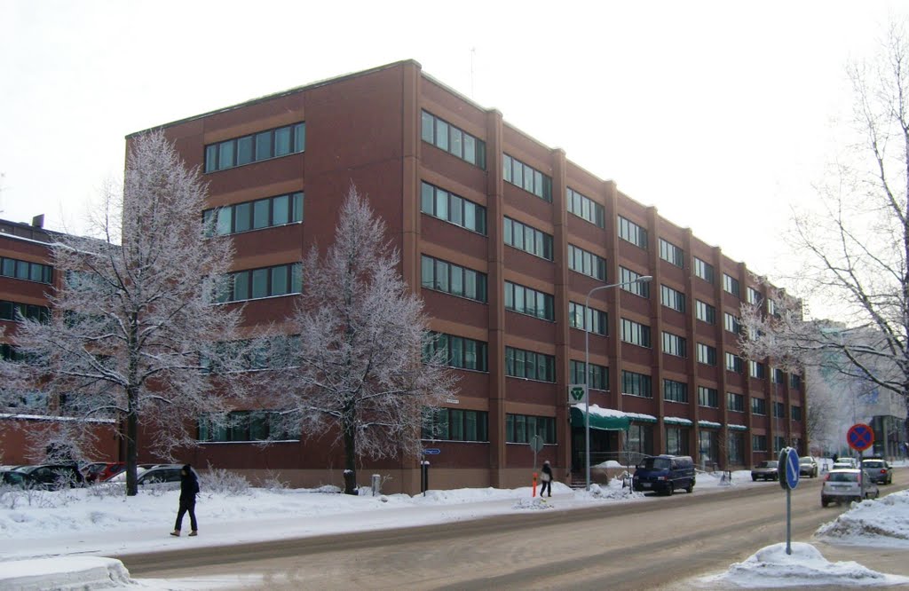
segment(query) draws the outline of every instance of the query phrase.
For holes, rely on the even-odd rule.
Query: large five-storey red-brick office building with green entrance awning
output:
[[[219,233],[235,241],[235,290],[250,325],[281,320],[303,288],[295,272],[331,241],[349,185],[370,197],[402,253],[402,272],[447,336],[460,392],[427,441],[432,486],[518,486],[533,464],[583,470],[584,414],[568,386],[584,382],[584,301],[594,287],[652,275],[590,298],[594,463],[677,453],[744,466],[785,442],[804,451],[798,376],[736,353],[743,301],[767,287],[744,263],[704,244],[616,188],[405,61],[306,85],[163,125],[209,183]],[[220,208],[215,213],[215,208]],[[210,215],[200,212],[200,215]],[[278,279],[273,280],[275,277]],[[237,418],[243,419],[242,409]],[[250,414],[217,434],[195,464],[267,467],[295,483],[326,479],[318,442],[264,450]],[[626,433],[627,435],[623,435]],[[341,456],[327,456],[339,468]],[[365,466],[413,492],[419,458]],[[330,467],[330,466],[329,466]],[[334,476],[331,476],[334,477]]]

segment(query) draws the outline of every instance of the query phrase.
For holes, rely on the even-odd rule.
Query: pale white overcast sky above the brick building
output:
[[[845,65],[909,15],[833,0],[442,6],[0,0],[0,217],[78,231],[125,135],[413,58],[775,279],[794,258],[779,240],[790,205],[838,150]]]

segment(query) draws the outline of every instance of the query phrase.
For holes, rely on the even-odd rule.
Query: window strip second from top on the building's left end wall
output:
[[[203,212],[205,235],[228,235],[303,221],[303,193],[225,205]]]

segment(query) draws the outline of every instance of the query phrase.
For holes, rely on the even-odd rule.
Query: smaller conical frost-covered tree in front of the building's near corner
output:
[[[334,244],[305,257],[289,323],[298,346],[272,380],[286,430],[343,446],[347,494],[356,494],[358,461],[417,456],[425,413],[454,393],[446,360],[423,359],[428,318],[398,263],[385,223],[352,186]]]

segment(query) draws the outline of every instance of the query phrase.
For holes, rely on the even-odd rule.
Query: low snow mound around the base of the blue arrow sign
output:
[[[814,546],[794,542],[791,555],[785,544],[766,546],[725,573],[698,581],[740,587],[884,586],[904,585],[909,576],[884,575],[852,561],[830,562]]]

